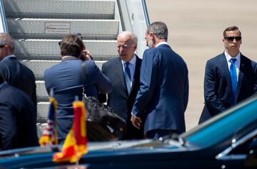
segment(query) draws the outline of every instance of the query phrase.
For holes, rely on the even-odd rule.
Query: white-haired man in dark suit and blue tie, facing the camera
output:
[[[113,90],[108,94],[107,104],[116,114],[126,120],[126,133],[122,139],[143,138],[143,130],[131,124],[131,109],[139,89],[141,59],[135,54],[138,38],[135,34],[124,31],[117,37],[119,58],[105,62],[104,75],[111,80]]]

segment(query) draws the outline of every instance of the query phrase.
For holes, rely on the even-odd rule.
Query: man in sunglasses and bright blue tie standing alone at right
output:
[[[257,65],[240,53],[241,31],[223,31],[225,51],[206,62],[205,105],[199,124],[257,93]]]

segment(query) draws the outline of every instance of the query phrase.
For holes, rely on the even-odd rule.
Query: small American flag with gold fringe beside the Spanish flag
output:
[[[46,127],[44,128],[43,134],[39,139],[39,144],[41,146],[49,146],[58,144],[57,140],[57,129],[56,129],[56,109],[57,102],[54,97],[49,97],[50,107],[47,119]]]

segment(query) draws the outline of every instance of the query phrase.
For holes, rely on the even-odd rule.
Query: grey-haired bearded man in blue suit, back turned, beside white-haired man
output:
[[[148,26],[146,44],[150,49],[143,53],[140,89],[131,116],[133,126],[138,129],[142,122],[140,116],[146,116],[144,133],[147,138],[186,131],[188,69],[167,39],[165,23],[154,22]]]

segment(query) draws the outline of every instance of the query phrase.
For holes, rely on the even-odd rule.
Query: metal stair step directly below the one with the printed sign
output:
[[[61,60],[60,40],[14,40],[15,55],[20,60]],[[117,56],[116,40],[83,40],[94,60],[109,60]]]

